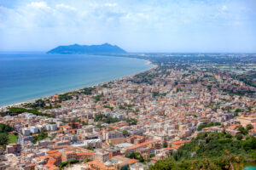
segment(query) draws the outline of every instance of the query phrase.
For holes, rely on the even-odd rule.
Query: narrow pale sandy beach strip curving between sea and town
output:
[[[137,59],[137,58],[132,58],[132,59]],[[151,68],[149,68],[148,70],[146,71],[150,71],[154,68],[157,68],[157,65],[153,65],[151,63],[151,61],[149,61],[148,59],[141,59],[141,60],[144,60],[146,63],[145,65],[152,65]],[[140,73],[143,73],[145,71],[140,71],[140,72],[137,72],[136,74],[133,74],[133,75],[129,75],[129,76],[125,76],[125,77],[134,77],[136,76],[137,74],[140,74]],[[96,83],[96,84],[93,84],[93,85],[89,85],[89,86],[86,86],[86,87],[83,87],[83,88],[90,88],[90,87],[95,87],[95,86],[99,86],[101,84],[105,84],[105,83],[108,83],[108,82],[113,82],[113,81],[119,81],[119,80],[122,80],[124,79],[125,77],[119,77],[119,78],[116,78],[116,79],[113,79],[113,80],[110,80],[110,81],[107,81],[107,82],[99,82],[99,83]],[[76,91],[79,91],[80,89],[83,89],[83,88],[76,88],[76,89],[73,89],[73,90],[68,90],[66,92],[63,92],[63,93],[58,93],[58,94],[67,94],[67,93],[70,93],[70,92],[76,92]],[[18,107],[18,106],[22,106],[26,103],[32,103],[38,99],[49,99],[50,97],[52,97],[53,95],[55,94],[51,94],[51,95],[47,95],[45,97],[41,97],[41,98],[37,98],[37,99],[29,99],[29,100],[26,100],[26,101],[23,101],[23,102],[18,102],[18,103],[15,103],[15,104],[10,104],[10,105],[0,105],[0,111],[1,110],[6,110],[7,108],[9,107]]]

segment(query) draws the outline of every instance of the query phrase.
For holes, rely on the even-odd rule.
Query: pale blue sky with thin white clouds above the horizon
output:
[[[0,51],[256,53],[256,0],[0,0]]]

